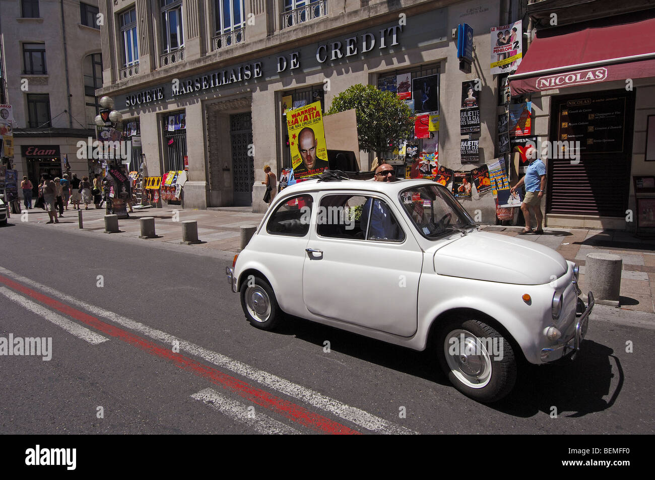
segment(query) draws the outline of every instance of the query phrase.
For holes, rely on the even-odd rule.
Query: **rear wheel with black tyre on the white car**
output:
[[[271,286],[257,276],[248,276],[241,284],[241,307],[253,327],[272,330],[282,318]]]

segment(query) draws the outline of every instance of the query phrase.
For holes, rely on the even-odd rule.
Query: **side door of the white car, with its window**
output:
[[[423,255],[398,209],[373,193],[325,193],[319,202],[303,266],[307,309],[402,337],[413,335]],[[385,209],[386,224],[394,230],[387,238],[373,234],[371,225],[376,210]]]

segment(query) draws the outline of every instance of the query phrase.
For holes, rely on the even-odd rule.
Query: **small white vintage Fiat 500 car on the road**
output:
[[[593,308],[578,268],[548,247],[478,231],[441,185],[312,180],[284,189],[227,268],[246,318],[291,314],[434,348],[455,388],[496,401],[520,358],[574,356]]]

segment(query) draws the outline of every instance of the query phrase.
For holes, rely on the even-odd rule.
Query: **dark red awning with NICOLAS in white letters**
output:
[[[537,33],[517,71],[512,95],[613,80],[655,77],[655,18]]]

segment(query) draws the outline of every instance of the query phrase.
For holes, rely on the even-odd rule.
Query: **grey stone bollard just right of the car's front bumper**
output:
[[[588,253],[584,278],[596,303],[619,306],[623,260],[613,253]]]

